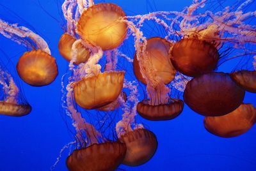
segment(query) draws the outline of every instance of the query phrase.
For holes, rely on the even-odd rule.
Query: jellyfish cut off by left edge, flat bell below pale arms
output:
[[[21,100],[19,88],[12,75],[4,70],[0,64],[0,114],[10,116],[23,116],[31,112],[31,106]]]

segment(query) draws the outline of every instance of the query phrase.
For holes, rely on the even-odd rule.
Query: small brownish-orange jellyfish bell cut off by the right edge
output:
[[[234,71],[230,73],[230,77],[245,91],[256,93],[256,71]]]

